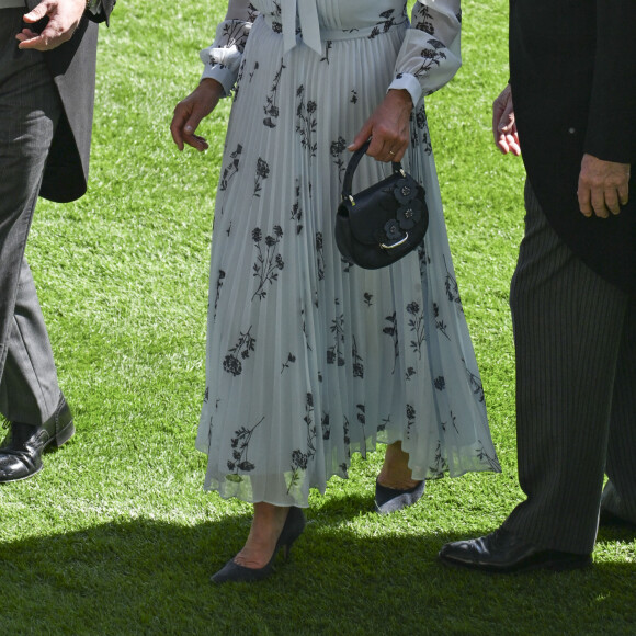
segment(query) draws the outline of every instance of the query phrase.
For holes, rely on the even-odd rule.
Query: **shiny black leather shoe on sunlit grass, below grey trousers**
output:
[[[11,422],[0,447],[0,482],[26,479],[42,470],[42,453],[47,446],[61,446],[75,434],[72,413],[60,395],[53,416],[41,427]]]

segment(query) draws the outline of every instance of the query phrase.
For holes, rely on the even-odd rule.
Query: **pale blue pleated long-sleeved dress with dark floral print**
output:
[[[404,0],[252,0],[228,16],[202,52],[234,102],[196,439],[205,487],[306,507],[352,453],[398,440],[414,479],[500,470],[423,102],[461,65],[458,0],[416,3],[411,24]],[[418,251],[365,271],[340,255],[333,222],[347,146],[389,87],[416,104],[402,164],[430,224]],[[364,158],[354,189],[389,170]]]

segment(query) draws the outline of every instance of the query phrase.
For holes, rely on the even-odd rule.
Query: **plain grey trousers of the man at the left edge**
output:
[[[61,104],[44,55],[18,49],[23,13],[0,10],[0,412],[39,424],[59,386],[24,250]]]

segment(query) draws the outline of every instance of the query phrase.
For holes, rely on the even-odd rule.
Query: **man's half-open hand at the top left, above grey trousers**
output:
[[[50,50],[69,41],[87,8],[86,0],[42,0],[35,9],[24,15],[24,22],[34,24],[48,16],[48,24],[42,33],[23,29],[15,38],[19,48]]]

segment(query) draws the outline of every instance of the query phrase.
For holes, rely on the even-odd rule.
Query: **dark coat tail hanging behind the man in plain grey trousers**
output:
[[[98,50],[95,23],[107,21],[115,1],[102,0],[100,15],[87,12],[68,42],[45,53],[64,107],[39,191],[45,198],[73,201],[87,191]],[[26,0],[29,9],[37,4],[39,0]]]

